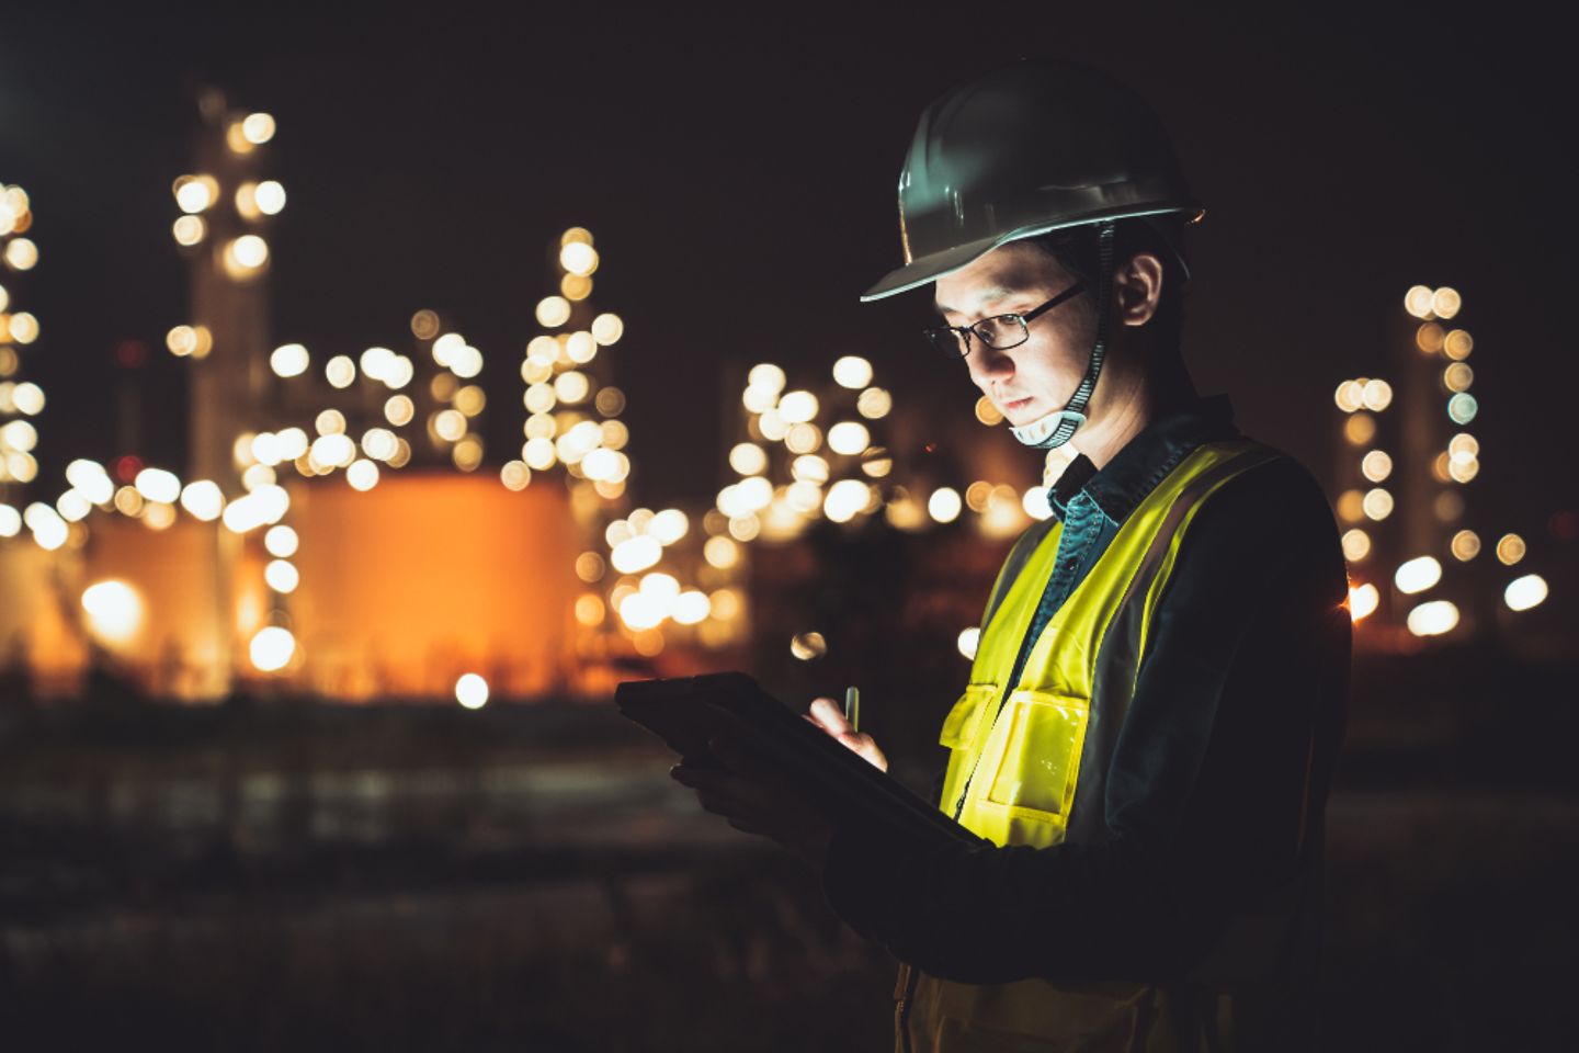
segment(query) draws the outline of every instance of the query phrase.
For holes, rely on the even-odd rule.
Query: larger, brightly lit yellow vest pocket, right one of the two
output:
[[[1080,774],[1090,699],[1018,690],[1009,696],[1009,729],[987,800],[1044,818],[1069,815]]]

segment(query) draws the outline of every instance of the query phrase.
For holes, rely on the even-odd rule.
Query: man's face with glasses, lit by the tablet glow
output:
[[[935,306],[949,325],[971,325],[993,314],[1028,314],[1071,286],[1074,278],[1036,246],[1011,242],[936,281]],[[1030,324],[1031,338],[996,350],[971,335],[965,365],[971,380],[1011,425],[1028,425],[1063,409],[1085,376],[1096,339],[1090,290]]]

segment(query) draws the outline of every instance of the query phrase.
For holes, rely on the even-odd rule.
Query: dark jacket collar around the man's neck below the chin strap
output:
[[[1210,395],[1170,410],[1124,444],[1099,472],[1086,455],[1075,456],[1047,488],[1047,504],[1060,521],[1082,489],[1115,524],[1129,518],[1146,494],[1195,447],[1240,434],[1227,395]]]

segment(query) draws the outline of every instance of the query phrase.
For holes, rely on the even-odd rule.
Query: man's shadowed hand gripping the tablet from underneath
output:
[[[832,823],[744,742],[712,739],[707,748],[723,767],[676,764],[669,769],[674,781],[695,789],[701,807],[725,816],[734,829],[772,838],[821,870],[834,837]]]

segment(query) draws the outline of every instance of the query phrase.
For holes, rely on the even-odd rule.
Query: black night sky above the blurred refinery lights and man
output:
[[[897,399],[940,420],[971,412],[963,369],[916,335],[927,294],[857,295],[900,262],[894,185],[921,109],[998,62],[1047,54],[1110,69],[1172,129],[1208,208],[1186,352],[1241,428],[1325,477],[1333,388],[1386,376],[1408,286],[1451,284],[1476,341],[1473,500],[1532,534],[1579,507],[1554,426],[1579,390],[1560,322],[1571,60],[1511,5],[1475,17],[1312,5],[1276,21],[1055,3],[238,11],[6,16],[0,182],[32,194],[41,249],[8,284],[43,325],[19,379],[51,399],[38,422],[51,496],[69,458],[126,452],[117,341],[150,343],[145,398],[180,406],[183,365],[163,350],[189,320],[171,182],[189,171],[201,81],[279,123],[275,341],[305,343],[316,363],[404,349],[411,314],[441,311],[486,355],[493,464],[512,456],[521,349],[554,290],[546,245],[589,227],[594,303],[627,322],[609,354],[632,393],[635,496],[669,502],[722,482],[723,426],[695,407],[718,404],[731,362],[780,362],[794,384],[865,354]],[[178,414],[150,412],[142,445],[178,467]]]

